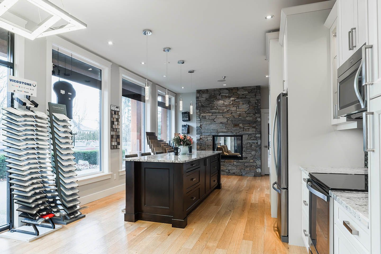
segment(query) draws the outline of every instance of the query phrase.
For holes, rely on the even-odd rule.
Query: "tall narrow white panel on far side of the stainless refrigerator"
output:
[[[271,39],[269,42],[269,93],[270,93],[270,135],[272,138],[274,113],[276,107],[277,96],[283,91],[283,65],[282,65],[282,46],[279,45],[278,39]],[[272,140],[270,141],[270,186],[277,181],[277,173],[273,159]],[[270,191],[271,217],[277,217],[277,192]]]

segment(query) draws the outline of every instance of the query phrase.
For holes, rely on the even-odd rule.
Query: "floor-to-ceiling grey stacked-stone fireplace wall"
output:
[[[225,157],[221,172],[226,175],[261,176],[261,88],[203,89],[196,91],[197,150],[217,150],[226,145],[241,158]],[[227,137],[242,136],[239,141]]]

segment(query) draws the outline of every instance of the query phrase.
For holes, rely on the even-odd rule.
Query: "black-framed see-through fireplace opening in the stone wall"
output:
[[[223,160],[242,160],[242,135],[213,135],[213,151]]]

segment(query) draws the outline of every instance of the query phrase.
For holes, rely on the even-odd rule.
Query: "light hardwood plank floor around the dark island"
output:
[[[2,254],[305,254],[282,243],[271,218],[269,178],[222,176],[188,217],[186,228],[124,222],[125,193],[87,204],[84,219],[30,243],[0,238]]]

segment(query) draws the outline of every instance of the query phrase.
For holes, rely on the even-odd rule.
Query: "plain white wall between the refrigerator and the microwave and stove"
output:
[[[301,237],[299,166],[363,167],[362,130],[331,125],[330,10],[287,16],[289,243]]]

